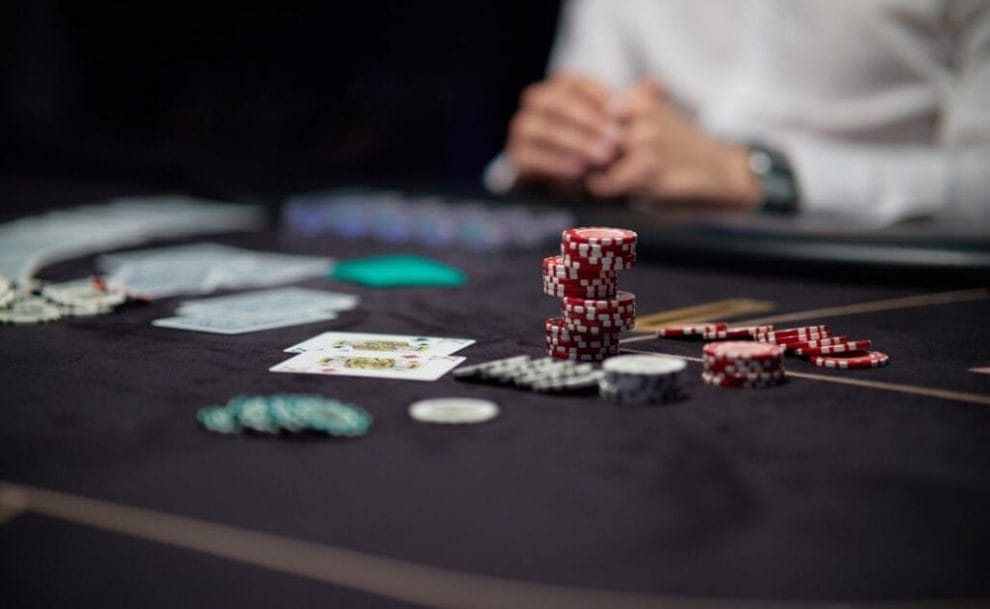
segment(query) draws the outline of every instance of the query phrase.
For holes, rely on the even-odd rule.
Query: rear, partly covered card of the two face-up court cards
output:
[[[450,355],[473,345],[470,338],[443,338],[437,336],[405,336],[401,334],[363,334],[360,332],[324,332],[313,338],[292,345],[286,353],[328,351],[350,353],[368,351],[382,355],[420,356]]]

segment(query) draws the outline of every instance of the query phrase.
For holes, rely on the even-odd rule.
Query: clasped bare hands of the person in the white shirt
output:
[[[752,208],[760,186],[743,146],[699,129],[649,81],[621,91],[574,74],[530,85],[506,152],[521,183],[602,198]]]

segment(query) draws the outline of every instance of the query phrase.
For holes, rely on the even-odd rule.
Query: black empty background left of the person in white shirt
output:
[[[558,3],[0,11],[5,174],[288,192],[476,182],[519,91],[542,76]]]

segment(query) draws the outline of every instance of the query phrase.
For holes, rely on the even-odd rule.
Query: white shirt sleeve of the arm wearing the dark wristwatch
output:
[[[795,135],[782,148],[804,209],[990,220],[990,3],[954,9],[954,74],[941,87],[935,141],[882,146]]]

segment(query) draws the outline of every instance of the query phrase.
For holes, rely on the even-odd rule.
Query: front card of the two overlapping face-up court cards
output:
[[[374,351],[306,351],[269,368],[272,372],[435,381],[466,358],[387,354]]]

